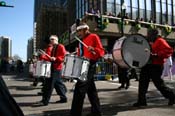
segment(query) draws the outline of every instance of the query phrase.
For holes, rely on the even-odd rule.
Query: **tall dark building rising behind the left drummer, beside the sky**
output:
[[[43,49],[49,36],[60,36],[68,30],[67,0],[35,0],[34,7],[34,52]]]

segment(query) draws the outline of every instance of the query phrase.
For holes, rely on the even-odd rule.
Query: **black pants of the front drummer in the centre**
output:
[[[97,89],[94,83],[94,73],[95,73],[95,64],[90,65],[88,71],[88,80],[80,81],[78,80],[75,85],[72,107],[71,107],[71,116],[81,116],[84,98],[87,93],[89,101],[91,103],[91,112],[100,114],[100,101],[97,94]]]

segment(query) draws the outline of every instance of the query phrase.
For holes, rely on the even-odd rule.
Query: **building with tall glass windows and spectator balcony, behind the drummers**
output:
[[[90,30],[99,34],[108,52],[112,50],[115,40],[123,35],[142,34],[146,36],[147,33],[145,32],[147,32],[148,26],[152,24],[159,29],[160,34],[173,46],[175,43],[173,35],[175,23],[174,4],[173,0],[70,0],[68,3],[68,15],[71,18],[68,21],[70,27],[73,28],[77,19],[86,17]],[[107,28],[103,30],[97,28],[98,23],[95,15],[98,12],[100,12],[103,19],[109,21]],[[91,16],[86,16],[86,13],[90,13]],[[123,26],[118,22],[120,20],[126,21],[126,15],[129,18],[127,21],[129,23]],[[141,19],[143,23],[141,22],[141,28],[134,32],[133,27],[136,25],[136,19],[139,22]],[[118,26],[121,26],[121,29]],[[169,30],[172,33],[167,32],[168,34],[165,34],[165,31]],[[71,34],[70,37],[70,42],[72,42],[70,46],[75,47],[76,43],[75,46],[72,45],[75,42],[74,34]]]

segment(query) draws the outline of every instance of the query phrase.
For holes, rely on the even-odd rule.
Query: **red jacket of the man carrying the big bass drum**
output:
[[[152,57],[153,64],[163,65],[165,60],[173,53],[171,46],[161,37],[157,38],[151,47],[152,53],[157,54],[157,56]]]

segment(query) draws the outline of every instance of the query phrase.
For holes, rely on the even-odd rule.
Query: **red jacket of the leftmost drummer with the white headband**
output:
[[[53,46],[49,46],[46,48],[45,52],[51,56]],[[58,47],[55,51],[54,57],[56,60],[53,63],[53,68],[56,70],[61,70],[63,67],[63,61],[66,54],[65,47],[62,44],[58,44]],[[40,56],[40,60],[50,61],[50,58],[47,55],[42,54]],[[51,61],[50,61],[51,62]]]

